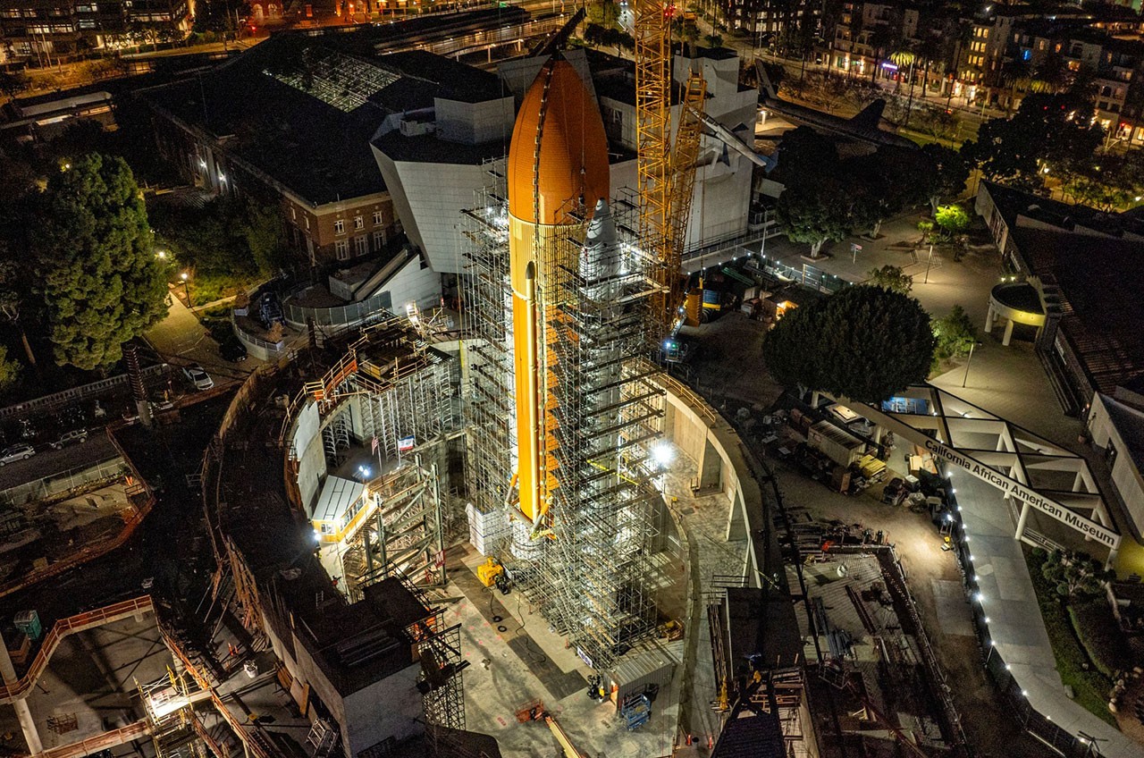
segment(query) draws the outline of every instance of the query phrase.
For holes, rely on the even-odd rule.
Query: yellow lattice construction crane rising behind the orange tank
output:
[[[680,319],[680,267],[691,214],[696,160],[707,85],[692,70],[683,93],[672,150],[672,19],[682,8],[670,0],[636,0],[636,153],[639,179],[639,243],[656,260],[652,299],[661,334]]]

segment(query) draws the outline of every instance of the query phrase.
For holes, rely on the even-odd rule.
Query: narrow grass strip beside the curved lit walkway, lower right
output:
[[[1062,605],[1052,585],[1041,574],[1044,555],[1034,554],[1024,545],[1025,562],[1028,563],[1028,575],[1033,579],[1036,592],[1036,603],[1041,607],[1044,629],[1052,643],[1052,655],[1057,660],[1057,671],[1060,681],[1073,688],[1073,700],[1111,726],[1117,726],[1117,718],[1109,712],[1109,690],[1112,682],[1105,678],[1088,660],[1068,621],[1068,611]],[[1089,670],[1085,671],[1083,664]],[[1119,728],[1119,727],[1118,727]]]

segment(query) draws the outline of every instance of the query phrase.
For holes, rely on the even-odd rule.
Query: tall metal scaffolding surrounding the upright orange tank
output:
[[[499,177],[493,173],[494,184]],[[495,187],[467,213],[464,276],[469,495],[474,511],[506,508],[516,469],[507,210]],[[587,214],[579,208],[580,216]],[[545,469],[550,508],[538,537],[510,521],[490,540],[514,583],[593,666],[605,668],[653,629],[648,558],[654,537],[651,447],[662,393],[646,349],[648,299],[660,291],[646,260],[605,207],[538,261]],[[620,230],[617,235],[615,229]],[[575,267],[561,261],[579,261]]]

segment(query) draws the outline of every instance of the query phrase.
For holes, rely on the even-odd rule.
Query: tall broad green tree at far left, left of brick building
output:
[[[56,363],[105,370],[166,315],[164,269],[122,158],[93,152],[54,175],[31,242]]]

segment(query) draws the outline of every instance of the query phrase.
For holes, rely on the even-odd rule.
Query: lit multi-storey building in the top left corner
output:
[[[0,64],[178,39],[192,14],[189,0],[0,0]]]

